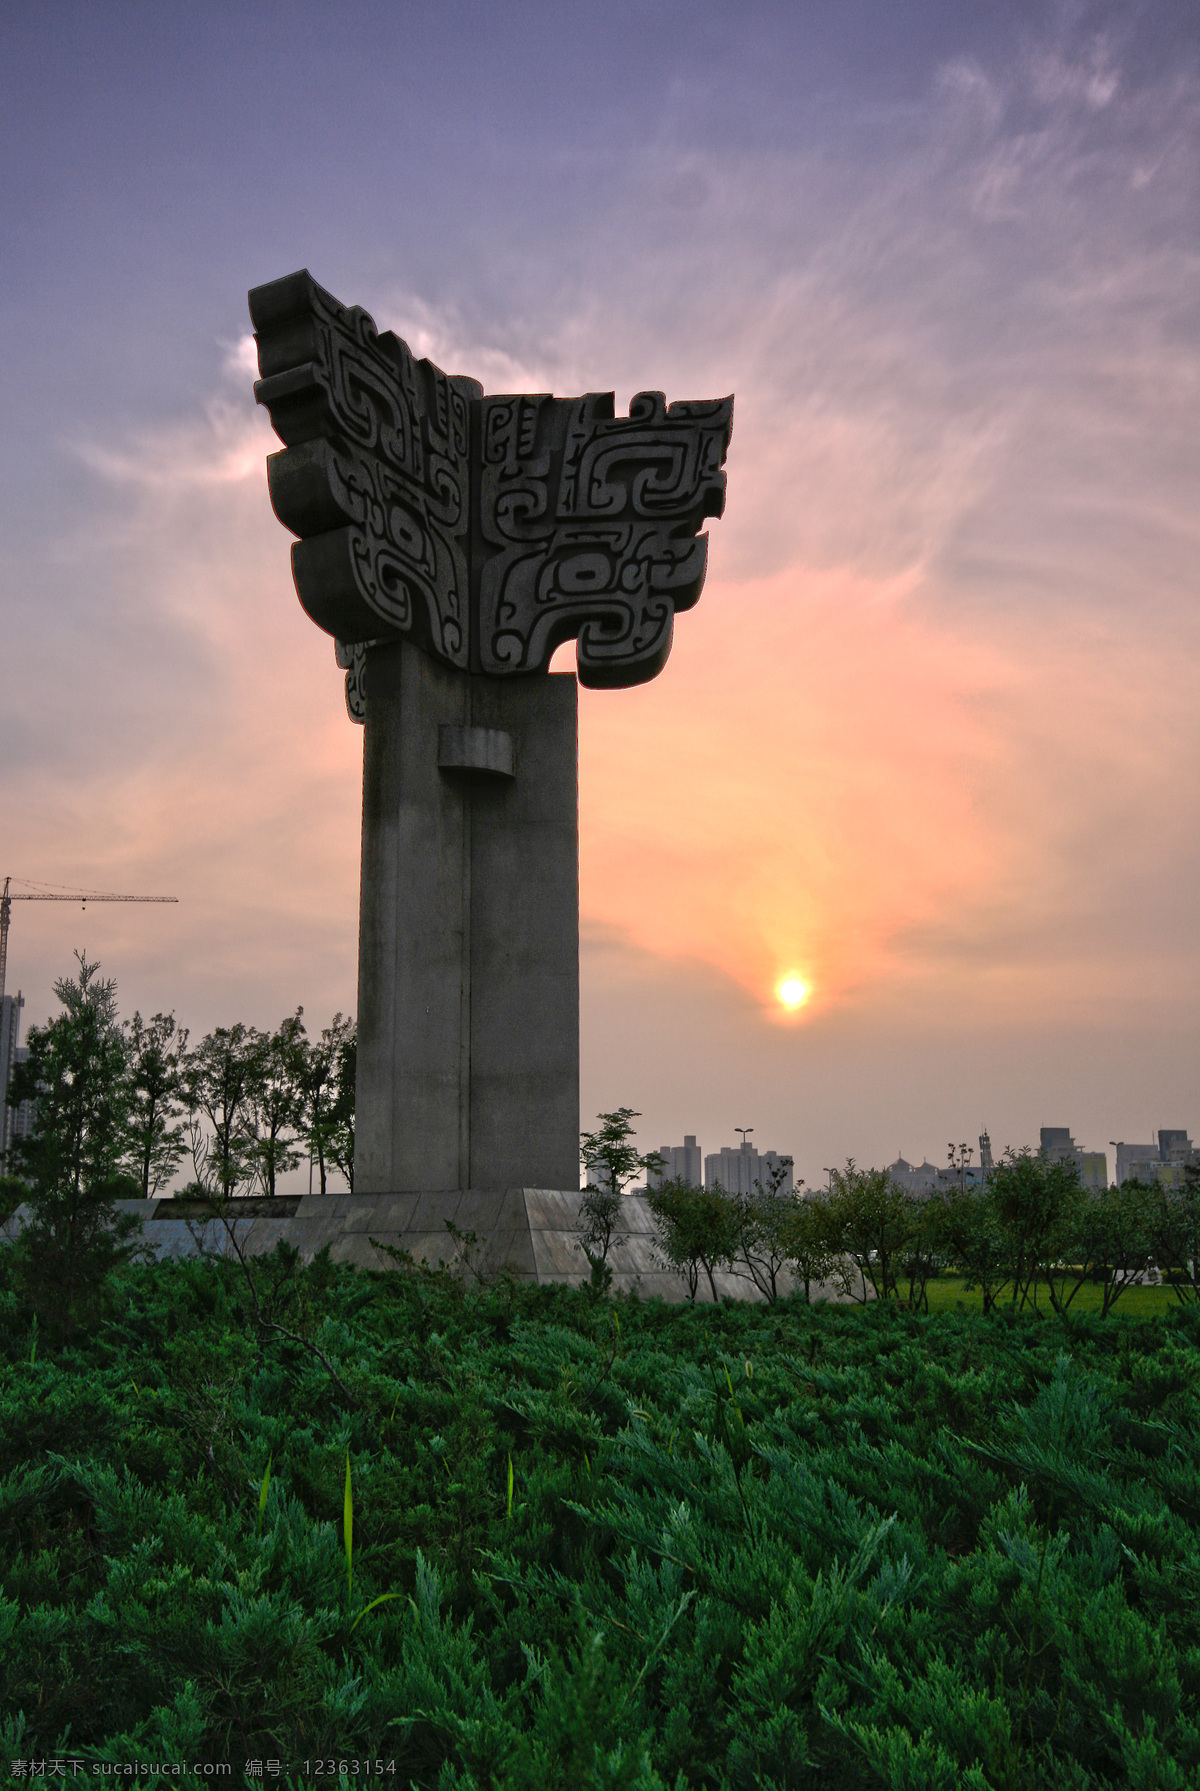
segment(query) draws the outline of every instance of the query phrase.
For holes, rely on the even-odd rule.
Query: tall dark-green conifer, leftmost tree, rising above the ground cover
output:
[[[100,980],[84,953],[75,958],[75,978],[54,985],[63,1014],[29,1028],[29,1058],[9,1096],[34,1101],[32,1137],[13,1146],[32,1207],[14,1266],[39,1322],[63,1343],[99,1313],[107,1277],[134,1254],[127,1239],[138,1221],[113,1202],[140,1193],[122,1171],[131,1096],[116,983]]]

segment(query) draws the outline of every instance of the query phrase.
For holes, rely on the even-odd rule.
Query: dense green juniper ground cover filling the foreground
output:
[[[1196,1782],[1196,1307],[668,1309],[317,1261],[256,1311],[184,1263],[122,1268],[48,1354],[5,1257],[11,1759]]]

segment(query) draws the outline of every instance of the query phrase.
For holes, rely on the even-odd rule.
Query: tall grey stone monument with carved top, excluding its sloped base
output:
[[[550,657],[575,638],[591,688],[663,670],[733,398],[485,396],[308,272],[249,304],[270,501],[365,724],[355,1195],[575,1191],[577,682]]]

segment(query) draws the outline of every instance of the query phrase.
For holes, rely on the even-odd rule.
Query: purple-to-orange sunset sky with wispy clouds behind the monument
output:
[[[308,267],[489,392],[736,394],[666,670],[580,691],[584,1123],[1200,1128],[1191,7],[18,0],[0,158],[0,876],[179,897],[16,904],[25,1023],[79,947],[355,1008],[245,308]]]

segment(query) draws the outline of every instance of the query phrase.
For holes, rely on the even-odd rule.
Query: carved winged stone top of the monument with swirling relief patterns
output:
[[[573,636],[584,684],[663,668],[724,509],[731,398],[639,392],[629,417],[611,392],[484,398],[306,272],[258,287],[251,315],[256,396],[288,444],[270,496],[313,621],[491,675],[544,672]]]

